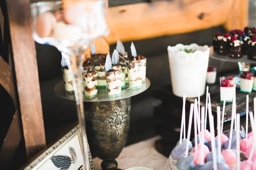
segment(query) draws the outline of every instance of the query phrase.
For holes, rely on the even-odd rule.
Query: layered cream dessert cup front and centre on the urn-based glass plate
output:
[[[122,84],[122,69],[116,68],[109,71],[105,71],[108,95],[120,95],[121,94],[121,84]]]

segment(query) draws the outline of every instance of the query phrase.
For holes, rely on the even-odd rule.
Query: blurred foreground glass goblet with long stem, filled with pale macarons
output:
[[[68,54],[73,72],[73,88],[83,142],[85,169],[89,170],[85,115],[81,85],[84,50],[90,42],[108,34],[104,0],[52,1],[31,4],[32,32],[36,42],[49,44]]]

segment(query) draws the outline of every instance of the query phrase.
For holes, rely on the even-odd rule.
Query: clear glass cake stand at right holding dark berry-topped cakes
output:
[[[213,51],[213,48],[211,47],[211,54],[209,57],[212,59],[217,59],[220,61],[225,62],[236,62],[239,66],[239,74],[238,75],[230,75],[230,77],[233,77],[236,81],[236,87],[240,87],[240,74],[242,71],[249,71],[250,70],[250,64],[256,63],[256,61],[247,59],[247,55],[243,55],[243,58],[239,59],[233,59],[228,57],[227,55],[219,55],[215,51]]]

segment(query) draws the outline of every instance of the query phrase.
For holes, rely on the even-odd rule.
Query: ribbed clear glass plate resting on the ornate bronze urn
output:
[[[122,89],[121,91],[121,95],[114,95],[114,96],[108,95],[107,88],[98,88],[98,94],[96,96],[93,96],[91,98],[84,96],[83,101],[84,102],[105,102],[105,101],[111,101],[111,100],[125,99],[125,98],[142,93],[143,91],[147,90],[149,86],[150,86],[150,81],[148,78],[146,78],[145,82],[142,82],[142,86],[140,88],[130,88],[129,85],[126,84],[125,88]],[[63,81],[59,82],[55,86],[54,91],[58,96],[61,96],[65,99],[76,100],[75,94],[68,94],[65,91]]]

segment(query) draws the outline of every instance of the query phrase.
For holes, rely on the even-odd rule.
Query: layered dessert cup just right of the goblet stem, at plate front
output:
[[[93,97],[98,94],[98,81],[97,81],[97,71],[96,70],[84,70],[83,71],[83,85],[84,85],[84,95],[86,97]]]

